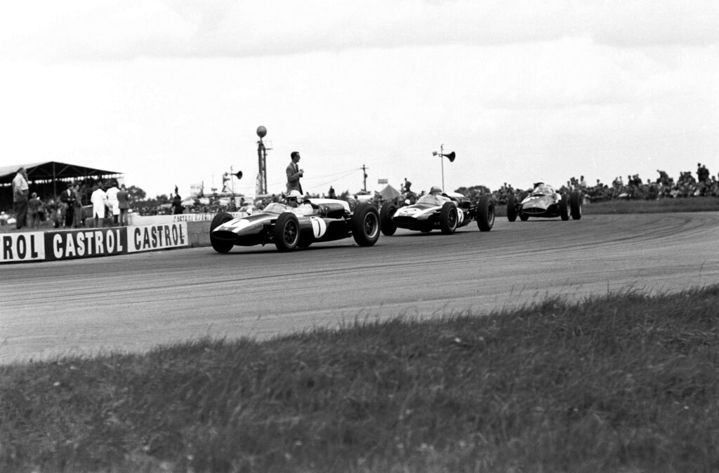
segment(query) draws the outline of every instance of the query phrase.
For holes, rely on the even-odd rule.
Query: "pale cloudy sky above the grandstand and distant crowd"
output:
[[[0,165],[76,162],[150,196],[719,172],[719,2],[14,1]]]

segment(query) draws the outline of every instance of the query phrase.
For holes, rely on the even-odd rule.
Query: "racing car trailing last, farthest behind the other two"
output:
[[[582,194],[578,190],[560,194],[549,184],[535,183],[531,193],[521,201],[513,193],[507,201],[509,221],[515,221],[517,217],[521,221],[527,221],[529,217],[562,217],[562,220],[569,220],[569,216],[574,220],[582,218]]]

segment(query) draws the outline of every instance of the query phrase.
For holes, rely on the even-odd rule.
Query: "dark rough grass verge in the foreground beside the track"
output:
[[[0,367],[3,472],[719,469],[719,286]]]

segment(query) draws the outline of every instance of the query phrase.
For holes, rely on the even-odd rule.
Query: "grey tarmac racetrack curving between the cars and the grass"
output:
[[[719,213],[498,219],[279,253],[176,249],[0,267],[0,363],[266,339],[355,319],[488,313],[559,295],[719,282]]]

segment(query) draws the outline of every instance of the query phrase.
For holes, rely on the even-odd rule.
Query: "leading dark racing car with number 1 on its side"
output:
[[[258,213],[239,218],[219,212],[210,224],[210,244],[219,253],[227,253],[235,245],[267,243],[274,243],[280,252],[290,252],[350,236],[362,247],[377,242],[380,214],[375,206],[360,203],[352,212],[346,201],[306,198],[296,207],[273,202]]]

